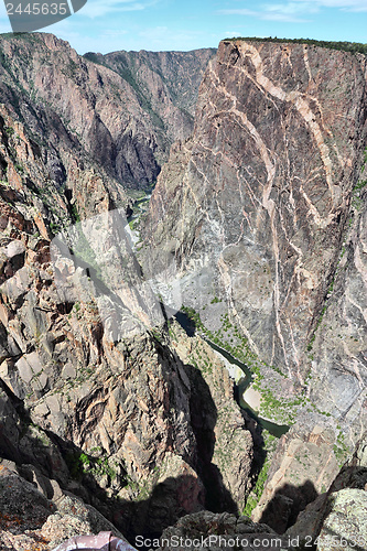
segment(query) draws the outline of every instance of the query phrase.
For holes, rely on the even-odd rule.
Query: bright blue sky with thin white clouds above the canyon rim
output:
[[[1,0],[0,6],[0,32],[10,32]],[[67,40],[80,54],[194,50],[217,46],[228,36],[367,43],[367,0],[88,0],[44,31]]]

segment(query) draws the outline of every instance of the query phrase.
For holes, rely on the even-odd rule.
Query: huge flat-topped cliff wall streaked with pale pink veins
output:
[[[343,397],[335,372],[343,371],[348,408],[365,386],[361,213],[348,245],[355,260],[338,276],[348,282],[339,283],[338,299],[327,306],[332,335],[325,347],[324,332],[315,356],[309,354],[346,239],[366,109],[363,55],[222,42],[201,86],[193,136],[172,148],[144,228],[150,261],[154,253],[175,258],[187,305],[211,309],[211,302],[226,301],[231,323],[247,339],[249,363],[256,356],[267,374],[263,385],[279,379],[273,395],[305,391],[313,360],[311,376],[327,379],[323,404],[332,393],[336,417]],[[215,325],[216,313],[211,316],[208,309],[202,314]],[[358,333],[359,344],[350,338],[346,345],[353,341],[354,353],[342,352],[343,338],[331,353],[341,323],[350,336]],[[316,388],[317,382],[314,393]]]

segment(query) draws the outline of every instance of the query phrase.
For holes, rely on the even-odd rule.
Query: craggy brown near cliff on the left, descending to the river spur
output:
[[[205,343],[196,356],[180,332],[170,347],[141,307],[152,293],[112,285],[139,272],[120,218],[101,225],[123,203],[121,186],[74,171],[84,207],[73,225],[67,194],[3,106],[0,160],[0,456],[56,480],[130,537],[160,533],[205,505],[241,508],[252,439],[224,365]],[[79,240],[53,259],[58,228]]]

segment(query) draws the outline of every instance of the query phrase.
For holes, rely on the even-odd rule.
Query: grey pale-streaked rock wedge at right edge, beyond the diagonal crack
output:
[[[338,420],[347,440],[354,443],[360,436],[360,422],[365,426],[367,404],[366,166],[365,152],[352,195],[348,230],[307,358],[310,397]]]

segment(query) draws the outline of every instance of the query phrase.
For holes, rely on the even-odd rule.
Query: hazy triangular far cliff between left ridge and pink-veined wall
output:
[[[199,84],[216,50],[192,52],[88,53],[84,57],[105,65],[126,79],[148,111],[156,134],[158,155],[168,160],[170,145],[188,138]]]

